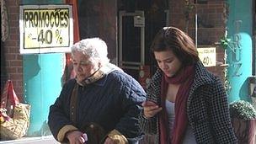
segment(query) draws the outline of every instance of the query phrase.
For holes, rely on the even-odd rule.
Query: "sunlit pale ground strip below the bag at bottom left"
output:
[[[19,140],[0,141],[0,144],[60,144],[53,136],[23,137]]]

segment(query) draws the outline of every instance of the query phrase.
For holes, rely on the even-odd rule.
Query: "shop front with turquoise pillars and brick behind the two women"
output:
[[[1,41],[1,93],[4,83],[10,79],[20,101],[31,105],[30,125],[25,136],[35,137],[31,141],[53,141],[47,125],[49,106],[58,97],[62,84],[72,77],[67,70],[67,65],[70,64],[68,50],[60,52],[52,49],[68,49],[73,42],[87,37],[97,36],[105,40],[110,61],[131,74],[146,88],[157,67],[149,51],[153,36],[164,26],[179,27],[194,38],[205,67],[221,77],[227,86],[229,102],[237,99],[251,101],[248,96],[248,79],[255,76],[256,72],[256,3],[253,0],[186,1],[189,3],[176,0],[77,0],[77,5],[72,5],[73,7],[68,4],[76,2],[75,0],[1,2],[1,10],[5,8],[7,13],[2,16],[6,19],[1,21],[2,25],[6,26],[5,31],[2,29]],[[25,9],[26,7],[30,9]],[[44,45],[40,45],[37,46],[40,47],[37,51],[22,51],[20,48],[26,47],[23,42],[29,37],[23,36],[24,32],[30,30],[33,34],[36,29],[22,30],[20,26],[24,24],[25,19],[30,19],[27,24],[38,24],[32,19],[38,16],[23,15],[22,19],[21,13],[26,10],[28,13],[34,13],[39,8],[44,11],[45,7],[68,10],[68,17],[71,18],[69,26],[74,28],[70,31],[72,35],[65,34],[65,29],[55,28],[48,33],[47,29],[44,29],[41,33],[44,37],[40,37],[38,32],[35,39],[44,44],[48,43],[46,48],[53,48],[45,51]],[[51,10],[48,12],[51,15]],[[61,13],[61,10],[58,12]],[[77,15],[74,17],[74,14]],[[65,18],[63,16],[63,19]],[[52,29],[54,26],[50,24],[49,27]],[[45,35],[52,35],[55,39],[45,38]],[[223,36],[231,40],[226,50],[220,45]],[[64,40],[65,38],[67,40]],[[64,45],[65,42],[67,45]],[[2,142],[8,141],[0,141]]]

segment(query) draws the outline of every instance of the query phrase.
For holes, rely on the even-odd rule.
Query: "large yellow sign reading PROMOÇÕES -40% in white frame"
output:
[[[21,54],[71,51],[72,6],[24,5],[19,14]]]

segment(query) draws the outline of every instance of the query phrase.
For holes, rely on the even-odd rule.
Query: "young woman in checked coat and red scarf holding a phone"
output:
[[[237,143],[221,80],[201,63],[193,40],[165,27],[151,46],[158,69],[139,124],[155,143]]]

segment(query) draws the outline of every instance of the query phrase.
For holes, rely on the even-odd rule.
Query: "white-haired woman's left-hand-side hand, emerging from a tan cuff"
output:
[[[83,144],[86,141],[81,131],[67,132],[67,139],[70,144]]]

